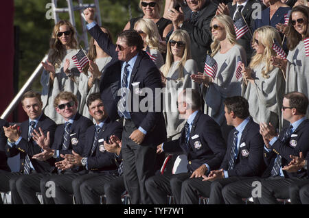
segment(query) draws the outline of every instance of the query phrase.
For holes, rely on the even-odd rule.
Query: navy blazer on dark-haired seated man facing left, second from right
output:
[[[242,131],[235,165],[233,169],[228,170],[229,160],[231,158],[231,146],[233,145],[233,132],[234,130],[229,132],[227,153],[220,168],[227,170],[229,177],[262,175],[265,165],[263,161],[264,141],[260,135],[260,125],[253,122],[252,118],[250,118],[249,123],[247,123]]]

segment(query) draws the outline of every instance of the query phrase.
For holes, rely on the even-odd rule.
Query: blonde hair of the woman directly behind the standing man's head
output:
[[[146,34],[144,43],[149,46],[150,49],[157,49],[160,52],[165,51],[165,47],[161,45],[161,36],[158,31],[157,25],[150,19],[139,19],[136,21],[134,28],[139,25],[141,31]]]

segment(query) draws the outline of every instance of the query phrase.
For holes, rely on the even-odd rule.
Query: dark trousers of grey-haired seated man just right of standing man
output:
[[[154,204],[168,204],[167,195],[172,195],[175,204],[181,202],[181,185],[192,173],[154,175],[146,180],[146,190]]]

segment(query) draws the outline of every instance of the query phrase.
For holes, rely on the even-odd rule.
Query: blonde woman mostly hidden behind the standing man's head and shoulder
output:
[[[158,69],[164,64],[163,56],[165,46],[160,43],[160,35],[155,23],[150,19],[139,19],[134,29],[139,33],[144,41],[144,51],[148,53],[151,60],[155,62]]]

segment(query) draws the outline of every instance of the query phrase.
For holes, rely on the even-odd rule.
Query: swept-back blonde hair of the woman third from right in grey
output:
[[[231,19],[231,17],[225,14],[218,14],[211,19],[210,25],[212,21],[214,21],[214,19],[217,19],[218,22],[221,23],[221,25],[225,29],[226,38],[227,40],[229,40],[229,43],[231,43],[231,45],[235,45],[236,33],[233,26],[233,20]],[[220,47],[220,41],[218,39],[215,39],[214,36],[211,36],[211,38],[213,40],[213,43],[211,43],[210,45],[211,56],[214,57],[214,55],[221,49],[221,47]]]

